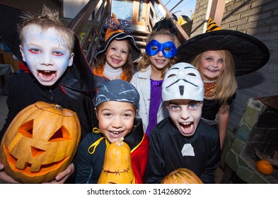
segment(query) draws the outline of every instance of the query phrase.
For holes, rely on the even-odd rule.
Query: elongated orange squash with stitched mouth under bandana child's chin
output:
[[[135,184],[130,148],[123,137],[108,146],[98,184]]]

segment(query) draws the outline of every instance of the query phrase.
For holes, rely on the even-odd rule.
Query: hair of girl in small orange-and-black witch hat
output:
[[[118,40],[118,41],[121,41],[121,40]],[[132,45],[128,39],[123,39],[122,41],[127,42],[128,55],[127,55],[127,62],[122,66],[122,76],[121,77],[127,78],[124,80],[129,82],[132,79],[132,75],[134,73],[134,65],[133,65],[133,60],[132,60]],[[112,40],[111,40],[111,42],[112,42]],[[110,44],[111,44],[111,42],[110,42]],[[109,45],[108,45],[107,49],[109,48]],[[93,68],[95,68],[97,73],[101,73],[100,71],[103,71],[105,62],[106,62],[105,52],[99,54],[98,57],[96,57],[95,62],[93,64]]]

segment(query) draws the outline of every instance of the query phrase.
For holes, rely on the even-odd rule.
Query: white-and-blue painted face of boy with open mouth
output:
[[[42,30],[33,24],[25,27],[25,38],[20,50],[23,61],[43,86],[56,83],[71,66],[74,57],[57,30]]]

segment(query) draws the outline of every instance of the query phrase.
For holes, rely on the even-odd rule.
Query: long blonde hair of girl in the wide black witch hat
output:
[[[216,86],[214,89],[215,99],[219,100],[221,105],[226,107],[228,105],[228,99],[236,92],[237,83],[236,83],[236,75],[233,64],[233,57],[231,52],[228,50],[216,50],[216,52],[220,55],[220,57],[224,61],[224,68],[220,71],[219,76],[216,79]],[[207,52],[202,52],[198,54],[195,59],[192,60],[191,64],[194,65],[201,75],[201,69],[199,65],[204,59],[204,56]],[[203,76],[202,76],[203,77]]]

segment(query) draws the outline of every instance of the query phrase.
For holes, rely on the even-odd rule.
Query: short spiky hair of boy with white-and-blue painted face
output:
[[[18,24],[18,33],[21,40],[21,45],[23,45],[24,42],[26,28],[29,25],[37,25],[42,28],[43,31],[49,28],[55,28],[59,35],[62,35],[66,47],[68,47],[70,52],[73,52],[75,39],[74,32],[71,29],[66,28],[66,26],[61,21],[59,21],[58,11],[51,10],[47,6],[43,6],[42,13],[40,13],[40,15],[25,13],[23,16],[21,16],[21,18],[23,19],[21,23]]]

